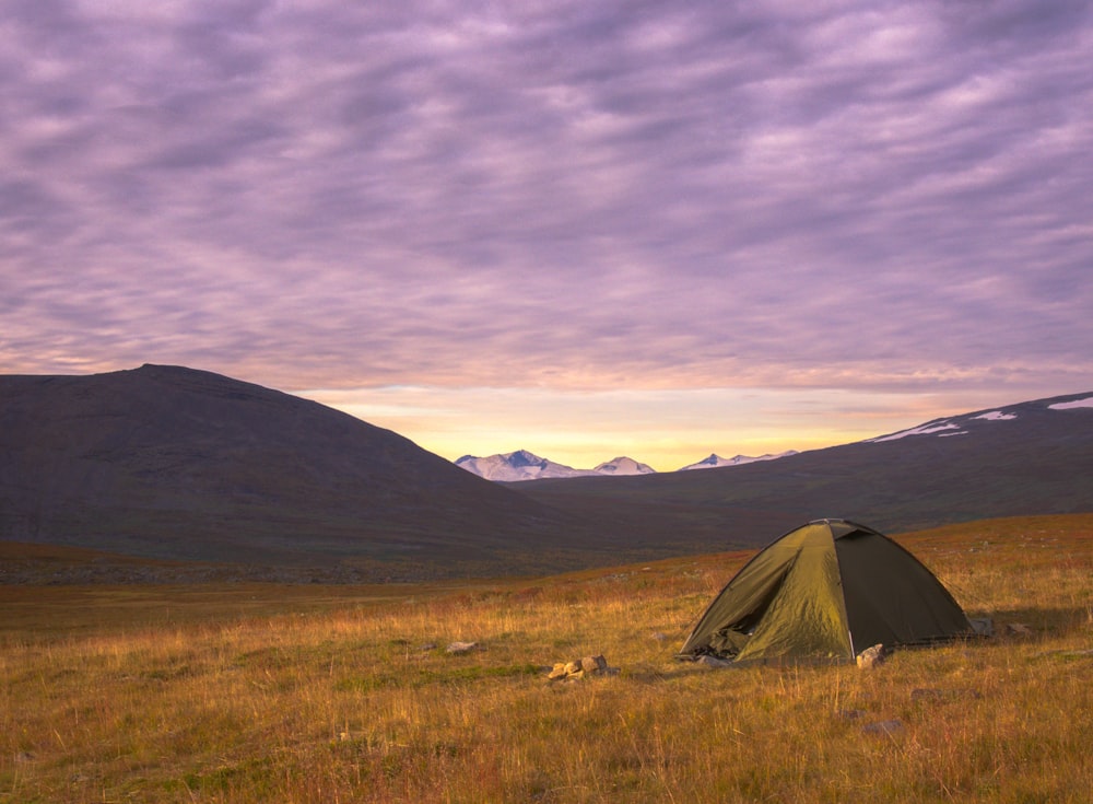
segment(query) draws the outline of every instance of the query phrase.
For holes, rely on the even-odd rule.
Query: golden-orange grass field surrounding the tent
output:
[[[998,636],[868,672],[677,662],[751,554],[444,585],[0,586],[0,802],[1089,801],[1093,515],[897,540]],[[619,672],[548,681],[591,654]]]

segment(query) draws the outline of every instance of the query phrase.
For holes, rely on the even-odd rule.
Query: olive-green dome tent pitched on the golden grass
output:
[[[971,632],[952,595],[903,547],[846,520],[816,520],[773,541],[729,581],[680,657],[853,660],[878,643]]]

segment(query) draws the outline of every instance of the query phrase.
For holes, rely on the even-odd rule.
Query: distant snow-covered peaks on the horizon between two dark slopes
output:
[[[721,466],[741,466],[752,464],[756,461],[774,461],[788,455],[796,455],[797,452],[778,453],[777,455],[760,455],[750,457],[748,455],[737,455],[731,458],[722,458],[720,455],[710,455],[694,464],[677,469],[677,471],[691,471],[693,469],[716,469]],[[456,466],[467,469],[473,475],[484,477],[486,480],[498,482],[522,482],[525,480],[549,480],[562,477],[628,477],[632,475],[655,475],[654,469],[648,464],[638,463],[634,458],[618,457],[607,461],[592,469],[575,469],[565,464],[559,464],[528,452],[517,450],[516,452],[501,455],[490,455],[487,457],[475,457],[474,455],[463,455],[456,461]]]

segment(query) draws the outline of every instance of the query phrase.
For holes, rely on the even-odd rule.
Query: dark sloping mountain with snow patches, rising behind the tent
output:
[[[947,417],[868,441],[707,471],[543,480],[528,497],[613,511],[666,537],[762,544],[801,522],[885,533],[998,516],[1093,511],[1093,392]]]

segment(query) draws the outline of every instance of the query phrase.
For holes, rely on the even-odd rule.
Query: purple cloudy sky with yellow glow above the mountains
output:
[[[1093,389],[1090,9],[0,0],[0,373],[660,470]]]

